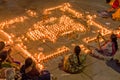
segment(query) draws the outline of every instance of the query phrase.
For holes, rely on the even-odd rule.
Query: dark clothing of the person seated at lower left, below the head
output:
[[[50,72],[48,70],[39,71],[35,65],[28,68],[23,65],[20,73],[22,74],[21,80],[50,80]]]

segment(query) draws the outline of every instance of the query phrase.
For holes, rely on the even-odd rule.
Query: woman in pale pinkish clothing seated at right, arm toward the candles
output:
[[[118,50],[117,37],[115,34],[111,34],[110,40],[106,41],[103,45],[100,45],[99,40],[98,43],[99,48],[95,48],[95,50],[92,52],[93,55],[96,55],[98,57],[114,56]]]

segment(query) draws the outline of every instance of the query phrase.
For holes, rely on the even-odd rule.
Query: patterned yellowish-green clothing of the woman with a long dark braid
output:
[[[75,54],[69,54],[65,56],[64,61],[63,61],[63,70],[68,72],[68,73],[79,73],[83,69],[83,63],[86,59],[85,54],[81,54],[79,56],[80,58],[80,65],[78,64],[78,59]]]

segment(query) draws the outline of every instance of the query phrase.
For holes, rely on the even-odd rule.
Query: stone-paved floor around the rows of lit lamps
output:
[[[55,43],[50,41],[49,39],[45,40],[36,40],[32,41],[26,36],[28,29],[34,29],[33,25],[36,24],[39,21],[42,21],[44,19],[43,11],[44,9],[53,8],[58,5],[64,4],[64,3],[70,3],[71,9],[75,10],[77,12],[82,12],[84,15],[97,15],[98,10],[103,10],[109,8],[109,6],[105,3],[105,1],[101,0],[52,0],[51,2],[48,0],[8,0],[7,3],[1,3],[0,2],[0,30],[5,31],[8,35],[15,37],[12,37],[12,40],[14,42],[13,52],[12,55],[15,59],[24,62],[25,58],[27,57],[24,52],[19,51],[19,49],[16,49],[16,44],[21,44],[21,41],[19,41],[19,38],[22,40],[22,46],[24,49],[26,49],[28,52],[31,53],[31,55],[34,55],[35,53],[39,53],[42,51],[45,55],[52,54],[56,52],[56,49],[66,46],[71,51],[73,51],[74,45],[81,45],[86,44],[82,41],[83,38],[91,36],[94,37],[96,34],[92,33],[92,30],[96,31],[98,28],[95,28],[95,26],[91,27],[91,31],[88,31],[86,33],[79,32],[79,37],[76,37],[76,35],[73,37],[68,36],[59,36]],[[32,10],[37,13],[37,16],[31,16],[27,13],[28,10]],[[70,17],[70,19],[74,20],[77,23],[83,23],[84,26],[86,25],[86,22],[82,19],[76,19],[74,16],[71,16],[71,14],[68,14],[67,12],[59,12],[58,10],[53,10],[53,13],[49,16],[45,16],[45,20],[49,17],[59,17],[61,15],[67,15]],[[19,21],[10,21],[15,20],[14,18],[25,16],[27,18]],[[21,18],[18,18],[21,19]],[[105,28],[114,30],[118,28],[120,25],[119,21],[113,21],[111,18],[101,18],[98,17],[95,19],[96,22],[100,23],[101,25],[106,26]],[[5,26],[3,25],[3,22],[6,22]],[[107,24],[109,23],[109,24]],[[51,22],[50,24],[54,24],[54,22]],[[49,24],[47,24],[49,25]],[[59,26],[60,27],[60,26]],[[91,35],[92,34],[92,35]],[[0,38],[2,40],[7,41],[8,39],[3,37],[4,35],[0,33]],[[24,38],[22,38],[24,37]],[[23,39],[27,38],[28,41],[25,41]],[[120,40],[118,40],[120,45]],[[96,42],[91,42],[90,44],[96,45]],[[25,46],[27,48],[25,48]],[[39,50],[42,49],[42,50]],[[67,53],[67,52],[66,52]],[[69,53],[69,52],[68,52]],[[84,52],[83,52],[84,53]],[[64,54],[65,55],[65,54]],[[111,67],[106,65],[106,62],[103,60],[96,59],[91,56],[87,56],[86,60],[86,67],[80,74],[68,74],[58,69],[58,63],[60,62],[60,59],[64,56],[57,56],[55,58],[52,58],[48,60],[46,63],[44,63],[44,66],[51,72],[51,74],[55,77],[57,77],[58,80],[120,80],[120,73],[112,69]],[[115,55],[115,58],[120,59],[120,51],[117,52]],[[54,65],[53,65],[54,64]]]

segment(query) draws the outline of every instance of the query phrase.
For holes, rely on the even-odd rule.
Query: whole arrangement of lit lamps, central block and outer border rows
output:
[[[43,14],[48,15],[48,14],[51,14],[51,11],[55,9],[60,9],[62,12],[67,11],[77,18],[81,18],[82,20],[87,21],[88,25],[94,25],[98,27],[100,30],[96,32],[100,32],[103,36],[110,34],[111,32],[114,32],[115,34],[120,34],[120,30],[114,30],[114,31],[108,30],[107,28],[105,28],[105,26],[102,26],[101,24],[93,21],[93,18],[95,18],[96,16],[90,16],[90,15],[83,16],[82,13],[71,9],[70,7],[71,5],[69,3],[64,3],[63,5],[60,5],[57,7],[45,9]],[[31,17],[36,17],[38,15],[35,11],[32,11],[32,10],[27,10],[26,13]],[[87,20],[84,18],[86,18]],[[28,19],[28,17],[20,16],[5,22],[1,22],[0,29],[9,28],[9,25],[12,25],[18,22],[24,22],[26,19]],[[15,44],[15,49],[24,53],[26,56],[31,57],[36,62],[38,67],[40,69],[43,69],[44,66],[41,65],[41,63],[47,62],[52,58],[63,55],[68,51],[70,51],[70,49],[68,47],[62,46],[58,48],[56,52],[50,55],[45,56],[43,55],[43,53],[39,53],[39,54],[37,53],[33,56],[31,53],[27,51],[26,46],[23,45],[22,39],[25,39],[26,41],[28,41],[28,38],[32,39],[33,41],[49,39],[50,41],[55,42],[58,39],[58,37],[64,36],[67,34],[73,34],[74,32],[77,32],[77,31],[85,32],[86,28],[84,25],[82,25],[81,23],[75,22],[70,17],[66,15],[62,15],[59,18],[50,17],[46,20],[38,21],[33,25],[33,27],[29,28],[28,32],[26,33],[27,38],[23,35],[13,41],[12,38],[15,36],[13,34],[8,35],[3,30],[0,30],[0,36],[3,36],[5,38],[7,44],[11,44],[11,43]],[[96,40],[96,37],[93,37],[93,38],[87,37],[83,39],[83,41],[86,43],[89,43],[94,40]],[[16,44],[15,41],[19,43]],[[90,52],[90,50],[84,45],[81,44],[79,46],[81,47],[81,50],[84,51],[86,54]]]

